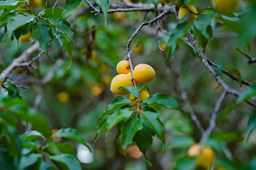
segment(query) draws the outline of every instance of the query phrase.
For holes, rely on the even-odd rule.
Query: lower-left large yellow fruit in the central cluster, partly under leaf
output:
[[[111,85],[110,85],[110,90],[114,94],[117,95],[125,95],[128,94],[129,92],[125,89],[119,89],[120,86],[133,86],[131,79],[129,76],[126,74],[118,74],[116,77],[113,78]]]

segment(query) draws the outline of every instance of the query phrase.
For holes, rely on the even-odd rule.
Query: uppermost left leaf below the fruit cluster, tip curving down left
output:
[[[106,107],[105,111],[102,113],[101,117],[99,117],[97,127],[99,127],[99,124],[101,124],[101,120],[105,116],[107,116],[109,113],[115,111],[116,109],[118,109],[124,105],[130,104],[130,103],[131,103],[131,101],[126,97],[117,96],[117,97],[113,98],[110,101],[109,105]]]

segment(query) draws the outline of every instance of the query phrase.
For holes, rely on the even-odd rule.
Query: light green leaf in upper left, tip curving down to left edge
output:
[[[7,23],[7,34],[5,36],[5,39],[3,42],[4,43],[7,41],[8,38],[11,37],[12,33],[17,30],[18,28],[25,26],[27,23],[29,22],[35,22],[35,18],[32,15],[29,14],[19,14],[17,16],[13,16],[12,18],[10,18],[10,20]]]

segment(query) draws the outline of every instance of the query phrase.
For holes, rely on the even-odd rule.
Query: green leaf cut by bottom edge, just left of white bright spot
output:
[[[52,155],[48,157],[56,165],[65,167],[68,170],[82,170],[80,162],[69,154]]]

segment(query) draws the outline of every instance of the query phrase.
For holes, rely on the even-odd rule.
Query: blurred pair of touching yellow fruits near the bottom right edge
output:
[[[197,165],[208,169],[212,166],[215,159],[214,151],[211,147],[201,146],[200,144],[194,144],[188,149],[189,157],[197,158]]]

